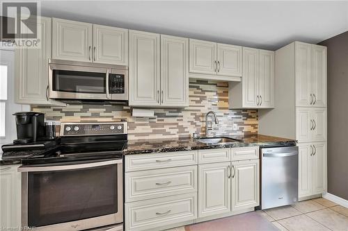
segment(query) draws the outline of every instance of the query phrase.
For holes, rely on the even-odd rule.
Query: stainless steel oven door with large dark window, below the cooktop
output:
[[[122,160],[21,166],[22,226],[85,230],[122,223]]]

